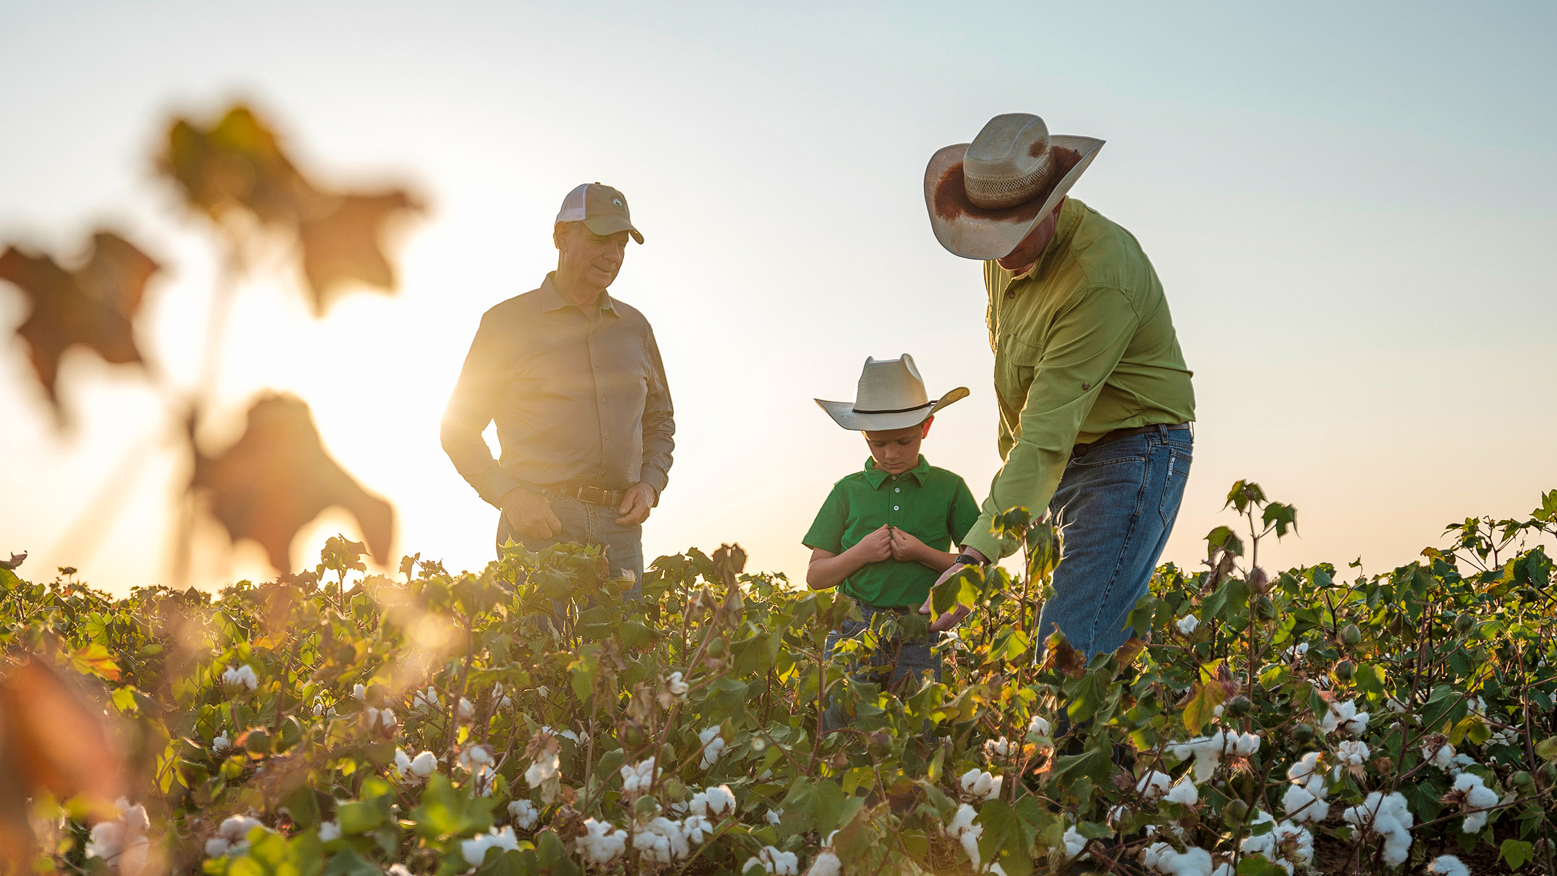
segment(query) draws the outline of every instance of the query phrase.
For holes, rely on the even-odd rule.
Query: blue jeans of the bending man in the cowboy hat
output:
[[[1130,630],[1179,517],[1194,439],[1188,429],[1112,440],[1071,456],[1049,503],[1065,545],[1040,643],[1059,625],[1076,650],[1112,653]]]

